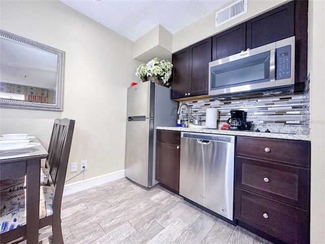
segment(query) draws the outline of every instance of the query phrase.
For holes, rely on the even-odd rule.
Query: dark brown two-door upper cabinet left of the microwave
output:
[[[172,99],[208,94],[211,37],[173,54]]]

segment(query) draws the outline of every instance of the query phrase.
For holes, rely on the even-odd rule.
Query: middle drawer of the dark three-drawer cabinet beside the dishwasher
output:
[[[309,206],[309,170],[236,157],[236,187],[305,210]]]

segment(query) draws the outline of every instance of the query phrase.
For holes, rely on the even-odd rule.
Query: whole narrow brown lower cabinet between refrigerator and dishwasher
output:
[[[157,130],[155,179],[179,194],[180,132]]]

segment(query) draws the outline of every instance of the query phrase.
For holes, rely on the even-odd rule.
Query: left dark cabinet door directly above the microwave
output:
[[[246,50],[246,22],[212,37],[212,61]]]

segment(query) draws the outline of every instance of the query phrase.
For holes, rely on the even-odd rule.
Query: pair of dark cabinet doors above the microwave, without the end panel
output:
[[[212,60],[295,35],[295,3],[289,2],[212,37]]]

